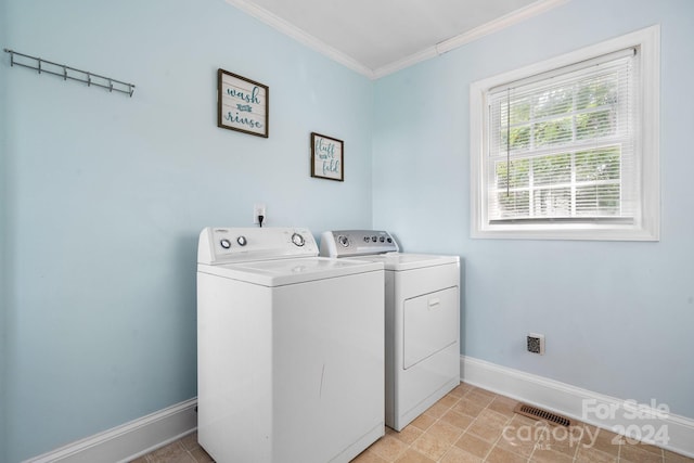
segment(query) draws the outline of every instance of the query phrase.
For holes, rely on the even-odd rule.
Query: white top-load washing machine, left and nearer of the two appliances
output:
[[[384,270],[306,229],[206,228],[198,441],[220,463],[348,462],[384,435]]]

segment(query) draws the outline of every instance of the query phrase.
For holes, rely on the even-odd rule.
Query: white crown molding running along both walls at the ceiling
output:
[[[277,29],[278,31],[295,39],[299,43],[305,44],[306,47],[330,57],[333,61],[336,61],[337,63],[368,77],[369,79],[375,80],[375,79],[380,79],[381,77],[385,77],[389,74],[396,73],[400,69],[404,69],[406,67],[410,67],[414,64],[417,64],[423,61],[430,60],[432,57],[436,57],[440,54],[447,53],[451,50],[454,50],[466,43],[475,41],[489,34],[493,34],[506,27],[511,27],[515,24],[522,23],[534,16],[540,15],[549,10],[552,10],[564,3],[567,3],[570,0],[538,0],[525,8],[522,8],[512,13],[509,13],[505,16],[502,16],[498,20],[483,24],[481,26],[476,27],[465,34],[461,34],[459,36],[452,37],[448,40],[437,43],[436,46],[428,47],[422,51],[419,51],[414,54],[406,56],[402,60],[398,60],[394,63],[387,64],[376,69],[371,69],[364,66],[354,57],[340,52],[339,50],[334,49],[333,47],[330,47],[325,42],[319,40],[318,38],[311,36],[310,34],[307,34],[306,31],[294,26],[293,24],[287,23],[286,21],[270,13],[269,11],[256,5],[252,1],[248,1],[248,0],[226,0],[226,1],[227,3],[249,14],[250,16],[257,20],[260,20],[261,22],[266,23],[267,25]]]

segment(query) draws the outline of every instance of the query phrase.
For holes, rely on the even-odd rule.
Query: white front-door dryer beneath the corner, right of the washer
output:
[[[460,384],[460,258],[373,230],[324,232],[320,254],[385,266],[386,425],[401,430]]]

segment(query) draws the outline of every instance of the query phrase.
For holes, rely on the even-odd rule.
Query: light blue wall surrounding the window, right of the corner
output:
[[[470,83],[661,25],[658,243],[472,240]],[[376,83],[374,227],[465,259],[463,353],[694,417],[694,2],[575,0]],[[547,355],[525,352],[528,332]]]

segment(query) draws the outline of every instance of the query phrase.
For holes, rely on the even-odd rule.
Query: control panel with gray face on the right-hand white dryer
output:
[[[321,235],[321,256],[355,257],[397,253],[395,239],[384,230],[334,230]]]

